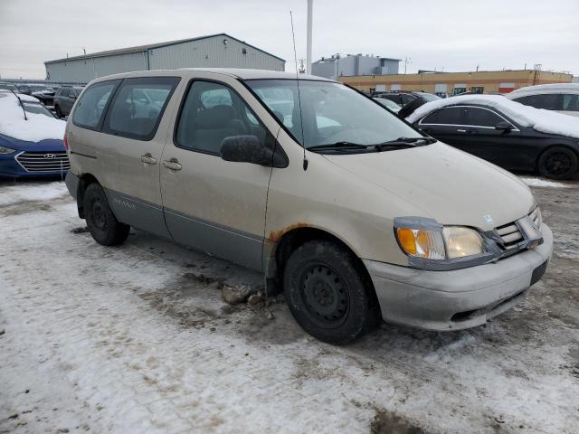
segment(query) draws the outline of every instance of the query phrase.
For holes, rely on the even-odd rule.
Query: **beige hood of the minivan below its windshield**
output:
[[[324,156],[412,203],[423,210],[422,217],[442,224],[490,231],[523,217],[535,204],[533,194],[517,176],[441,142],[380,153]]]

